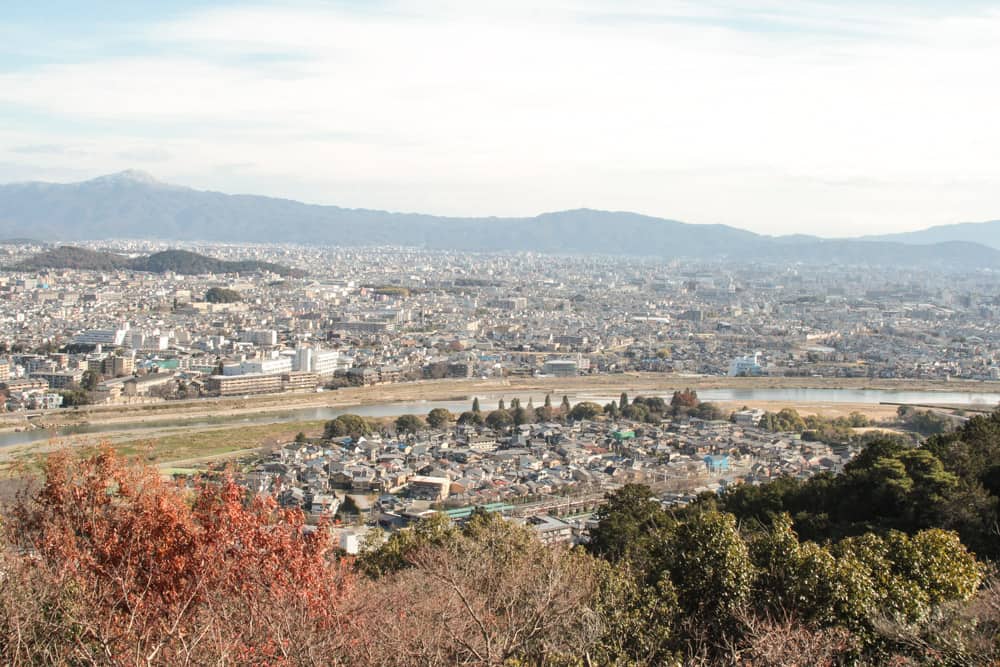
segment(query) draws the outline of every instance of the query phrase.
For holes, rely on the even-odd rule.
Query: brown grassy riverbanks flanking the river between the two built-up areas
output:
[[[691,387],[704,400],[715,402],[724,413],[746,406],[770,412],[793,408],[802,415],[825,418],[860,412],[877,422],[891,421],[897,406],[880,396],[864,392],[905,392],[914,402],[945,393],[964,393],[973,398],[994,398],[996,383],[906,382],[824,380],[822,378],[719,378],[662,374],[605,375],[579,378],[525,378],[513,380],[472,379],[402,383],[380,387],[348,388],[320,394],[269,395],[249,399],[207,399],[144,406],[98,406],[79,411],[75,421],[59,422],[51,413],[47,424],[73,431],[6,434],[0,440],[37,438],[0,447],[0,475],[16,474],[19,467],[37,465],[39,457],[60,447],[93,447],[110,442],[129,456],[139,456],[165,467],[204,464],[219,457],[253,451],[291,440],[296,433],[309,436],[322,432],[322,425],[339,412],[358,412],[370,418],[393,418],[399,414],[425,415],[435,407],[461,412],[471,407],[471,397],[480,398],[484,410],[493,409],[500,398],[508,403],[531,397],[541,405],[546,394],[553,402],[568,395],[571,402],[617,400],[622,391],[630,397],[667,395]],[[928,393],[930,392],[930,393]],[[713,396],[715,394],[715,396]],[[746,394],[746,395],[743,395]],[[784,398],[775,400],[779,394]],[[791,395],[792,398],[788,398]],[[865,400],[845,400],[863,395]],[[725,398],[723,398],[725,396]],[[810,398],[821,396],[822,398]],[[758,398],[755,398],[758,397]],[[769,398],[771,397],[771,398]],[[838,400],[830,400],[836,398]],[[989,403],[982,403],[988,409]],[[74,411],[76,412],[76,411]],[[86,417],[86,419],[81,419]]]

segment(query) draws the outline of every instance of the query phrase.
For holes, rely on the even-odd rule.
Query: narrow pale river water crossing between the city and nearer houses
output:
[[[645,393],[643,395],[649,395]],[[655,395],[655,394],[654,394]],[[503,396],[508,405],[511,398],[520,398],[527,404],[530,397],[535,406],[540,406],[545,400],[543,394],[521,394],[511,392],[506,395],[490,394],[480,399],[484,411],[496,407],[497,401]],[[909,403],[933,405],[965,405],[974,408],[988,408],[1000,403],[1000,393],[954,392],[954,391],[897,391],[886,389],[702,389],[698,396],[703,401],[724,401],[731,403],[755,403],[761,401],[801,403],[803,405],[821,405],[824,403],[860,403],[877,405],[879,403]],[[669,395],[664,395],[669,399]],[[552,397],[554,403],[562,400],[561,394]],[[595,401],[606,403],[618,400],[618,395],[594,395],[577,393],[570,394],[570,400]],[[277,424],[283,422],[300,422],[312,420],[333,419],[345,413],[359,414],[365,417],[391,417],[407,413],[425,415],[434,408],[445,408],[452,412],[462,412],[471,407],[471,397],[465,401],[407,401],[398,403],[380,403],[369,405],[345,405],[338,407],[303,408],[286,411],[269,411],[256,415],[241,415],[234,417],[215,418],[173,418],[165,420],[150,420],[119,424],[82,424],[59,429],[37,429],[20,433],[8,432],[0,434],[0,447],[24,445],[53,438],[73,435],[97,435],[111,432],[127,432],[151,428],[189,428],[193,430],[218,427],[255,424]]]

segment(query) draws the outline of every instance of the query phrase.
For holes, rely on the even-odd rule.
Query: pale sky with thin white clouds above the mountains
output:
[[[991,220],[998,35],[978,0],[11,2],[0,182],[766,234]]]

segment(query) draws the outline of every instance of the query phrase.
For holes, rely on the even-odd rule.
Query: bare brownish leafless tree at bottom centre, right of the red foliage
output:
[[[365,590],[370,612],[354,633],[363,664],[575,664],[594,644],[597,565],[586,554],[481,513],[406,561]]]

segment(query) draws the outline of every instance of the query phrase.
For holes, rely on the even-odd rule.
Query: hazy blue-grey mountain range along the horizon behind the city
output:
[[[860,239],[766,236],[637,213],[579,209],[458,218],[304,204],[161,183],[125,171],[81,183],[0,185],[0,238],[403,245],[466,251],[1000,267],[1000,221]]]

